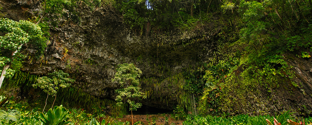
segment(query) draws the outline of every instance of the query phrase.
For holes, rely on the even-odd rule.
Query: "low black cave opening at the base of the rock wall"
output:
[[[138,108],[137,111],[132,111],[134,115],[156,115],[156,114],[170,114],[173,113],[173,110],[168,110],[168,109],[161,109],[161,108],[155,108],[155,107],[150,107],[147,105],[142,105],[141,108]]]

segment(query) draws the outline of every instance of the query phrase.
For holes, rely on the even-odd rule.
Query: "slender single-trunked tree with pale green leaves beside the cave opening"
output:
[[[116,97],[117,105],[121,106],[125,100],[129,104],[129,110],[131,111],[132,125],[133,125],[133,113],[142,106],[141,103],[136,103],[134,100],[140,98],[146,98],[145,93],[140,91],[139,79],[142,71],[136,68],[133,64],[120,64],[116,69],[115,78],[113,82],[119,83],[121,89],[116,90],[119,94]]]

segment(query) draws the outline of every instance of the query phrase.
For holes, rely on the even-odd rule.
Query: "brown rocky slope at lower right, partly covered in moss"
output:
[[[276,76],[274,82],[246,84],[249,78],[242,78],[244,67],[239,67],[233,81],[234,91],[225,97],[229,103],[224,105],[224,112],[230,114],[275,115],[291,111],[295,115],[308,117],[312,114],[312,59],[297,58],[293,54],[284,54],[284,59],[294,75],[282,72],[284,77]]]

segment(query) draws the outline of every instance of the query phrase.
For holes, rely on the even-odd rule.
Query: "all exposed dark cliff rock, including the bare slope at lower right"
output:
[[[38,16],[39,5],[38,1],[4,0],[0,16],[16,21],[27,20]],[[50,27],[51,37],[44,58],[27,57],[22,70],[37,75],[64,70],[75,77],[75,87],[97,97],[114,99],[115,89],[119,88],[111,82],[116,66],[134,63],[143,71],[141,78],[148,81],[142,82],[142,88],[154,94],[142,103],[163,109],[172,109],[179,101],[179,85],[184,81],[179,73],[183,68],[212,59],[217,44],[214,39],[222,27],[209,22],[203,29],[198,26],[192,31],[174,29],[140,35],[127,27],[118,12],[111,8],[99,7],[92,11],[81,8],[78,13],[80,23],[60,19],[58,27]],[[218,17],[212,19],[218,21]],[[27,44],[23,48],[29,53],[36,51]],[[278,90],[271,93],[258,87],[261,93],[248,95],[247,103],[236,100],[229,112],[254,115],[294,109],[311,114],[311,59],[302,62],[301,59],[286,58],[294,67],[299,87],[285,79],[281,79],[286,82],[280,82]],[[239,70],[243,69],[236,71]],[[174,78],[178,78],[178,82]]]

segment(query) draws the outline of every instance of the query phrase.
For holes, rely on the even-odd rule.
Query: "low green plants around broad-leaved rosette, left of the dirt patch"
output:
[[[0,96],[2,99],[3,96]],[[2,102],[3,100],[0,100]],[[15,103],[10,99],[0,109],[2,125],[129,125],[129,122],[115,121],[114,118],[101,114],[98,116],[86,113],[83,109],[66,109],[62,105],[50,108],[46,113],[29,109],[27,103]]]

